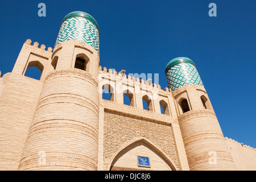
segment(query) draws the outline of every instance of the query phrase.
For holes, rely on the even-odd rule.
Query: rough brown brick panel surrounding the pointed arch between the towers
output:
[[[179,169],[179,162],[170,124],[150,120],[147,121],[147,119],[130,117],[110,110],[105,110],[104,113],[104,166],[106,167],[109,165],[111,162],[110,158],[112,158],[119,148],[126,143],[129,143],[131,140],[140,137],[150,141],[156,148],[163,151],[164,154],[174,162],[176,168]],[[146,149],[144,148],[144,150]],[[145,152],[144,150],[140,151],[138,147],[135,153],[143,155]],[[134,157],[134,155],[132,156]],[[127,158],[127,161],[134,162],[134,158]],[[123,167],[131,166],[129,166],[129,163],[124,163]]]

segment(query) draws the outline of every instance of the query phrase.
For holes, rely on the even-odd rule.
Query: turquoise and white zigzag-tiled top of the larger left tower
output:
[[[91,15],[82,11],[74,11],[62,20],[55,46],[65,40],[81,40],[90,44],[99,53],[98,34],[98,23]]]

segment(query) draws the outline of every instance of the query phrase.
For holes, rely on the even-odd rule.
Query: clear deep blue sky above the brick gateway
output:
[[[38,4],[46,4],[46,17]],[[209,3],[217,5],[210,17]],[[225,137],[256,148],[256,1],[1,1],[2,76],[11,72],[26,39],[54,47],[61,20],[72,11],[100,27],[102,67],[159,73],[175,57],[194,61]],[[154,79],[153,79],[154,80]]]

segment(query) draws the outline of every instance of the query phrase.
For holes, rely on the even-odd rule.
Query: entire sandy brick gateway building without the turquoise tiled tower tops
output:
[[[77,57],[85,70],[75,68]],[[40,80],[24,76],[29,67]],[[255,148],[224,137],[204,86],[172,92],[102,68],[97,51],[79,40],[46,50],[28,39],[13,71],[0,77],[1,170],[256,170],[255,159]]]

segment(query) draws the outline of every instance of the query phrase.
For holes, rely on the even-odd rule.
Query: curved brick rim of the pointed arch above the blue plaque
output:
[[[159,147],[155,146],[155,144],[152,144],[150,141],[148,141],[146,138],[138,137],[130,142],[124,144],[121,148],[119,148],[115,153],[112,155],[112,158],[109,159],[109,163],[106,167],[106,170],[109,171],[112,165],[118,160],[118,154],[121,154],[123,151],[126,150],[126,148],[129,148],[133,146],[133,144],[136,144],[138,142],[146,144],[148,147],[150,147],[151,150],[153,150],[156,154],[161,156],[161,158],[166,162],[166,164],[171,168],[172,171],[177,171],[177,167],[175,166],[174,162],[168,158],[168,156],[165,154],[164,151],[160,150]],[[122,154],[121,154],[122,155]]]

